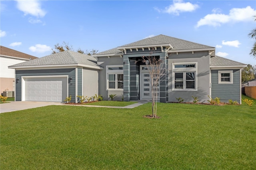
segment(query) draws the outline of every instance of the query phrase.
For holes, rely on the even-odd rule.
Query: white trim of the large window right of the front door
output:
[[[175,65],[182,65],[182,64],[183,65],[195,64],[195,67],[174,68]],[[197,85],[198,85],[197,68],[198,68],[198,62],[172,63],[172,91],[198,91],[198,89],[197,89]],[[183,85],[183,89],[175,89],[175,73],[186,73],[186,72],[195,72],[195,89],[185,89],[185,85]],[[184,76],[186,76],[186,75],[184,75]],[[186,77],[183,78],[183,82],[186,83]]]

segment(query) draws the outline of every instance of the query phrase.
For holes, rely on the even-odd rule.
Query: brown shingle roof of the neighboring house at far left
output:
[[[30,58],[31,59],[36,59],[37,58],[33,55],[22,53],[20,51],[10,49],[10,48],[4,47],[2,45],[0,45],[0,55],[7,55],[7,56],[10,56],[10,57],[19,57],[19,58],[25,58],[25,59],[30,59]]]

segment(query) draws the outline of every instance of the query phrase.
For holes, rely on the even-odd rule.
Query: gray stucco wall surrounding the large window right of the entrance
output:
[[[197,91],[174,91],[172,90],[172,63],[197,62]],[[210,55],[208,51],[194,51],[184,53],[172,53],[168,57],[168,101],[176,102],[181,97],[184,102],[192,102],[198,97],[199,102],[207,101],[210,95]]]

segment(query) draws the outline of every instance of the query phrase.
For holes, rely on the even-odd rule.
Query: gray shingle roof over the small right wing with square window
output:
[[[240,63],[237,61],[233,61],[231,59],[226,59],[219,56],[214,56],[210,58],[210,65],[211,66],[221,66],[221,65],[246,65],[244,63]]]

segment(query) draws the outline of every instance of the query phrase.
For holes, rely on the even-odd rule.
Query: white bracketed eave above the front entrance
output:
[[[169,49],[173,49],[173,47],[172,47],[172,45],[170,43],[155,44],[155,45],[125,46],[125,47],[117,47],[117,49],[119,49],[121,51],[124,51],[124,53],[126,54],[126,50],[127,49],[129,49],[130,51],[132,51],[133,49],[136,49],[136,51],[138,51],[138,49],[142,49],[142,51],[144,51],[145,48],[147,48],[148,50],[150,50],[151,48],[154,48],[156,50],[157,47],[160,47],[162,52],[164,52],[164,47],[167,47],[167,51]]]

